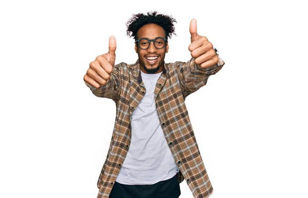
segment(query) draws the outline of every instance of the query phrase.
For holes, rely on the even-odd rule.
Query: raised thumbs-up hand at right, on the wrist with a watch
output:
[[[191,43],[188,50],[191,52],[191,57],[195,58],[195,63],[202,68],[217,64],[218,56],[213,49],[213,44],[205,36],[200,36],[197,33],[197,20],[195,18],[190,21],[189,32]]]

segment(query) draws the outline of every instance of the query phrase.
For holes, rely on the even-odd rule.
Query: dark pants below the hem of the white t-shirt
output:
[[[109,198],[179,198],[180,184],[175,175],[151,185],[126,185],[114,182]]]

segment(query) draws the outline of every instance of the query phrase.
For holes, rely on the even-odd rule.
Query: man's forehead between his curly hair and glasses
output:
[[[165,31],[156,24],[147,24],[142,26],[137,32],[138,38],[154,39],[156,37],[165,37]]]

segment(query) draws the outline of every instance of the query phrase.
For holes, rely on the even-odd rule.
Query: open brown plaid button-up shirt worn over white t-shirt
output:
[[[165,63],[155,87],[157,114],[166,141],[180,171],[179,183],[184,179],[195,198],[208,197],[213,192],[199,147],[185,106],[185,98],[204,86],[210,75],[224,65],[219,58],[216,65],[201,68],[194,63],[177,61]],[[112,99],[117,106],[114,129],[106,161],[98,180],[98,198],[108,197],[124,162],[131,141],[131,114],[146,89],[142,81],[139,60],[134,64],[121,62],[114,65],[110,79],[99,89],[88,83],[98,97]]]

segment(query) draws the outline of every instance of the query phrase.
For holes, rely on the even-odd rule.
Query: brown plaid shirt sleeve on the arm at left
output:
[[[119,65],[114,65],[113,70],[110,73],[110,78],[107,80],[106,84],[101,85],[99,88],[95,88],[87,82],[85,82],[85,84],[90,88],[95,96],[110,98],[117,103],[121,90],[121,72]]]

